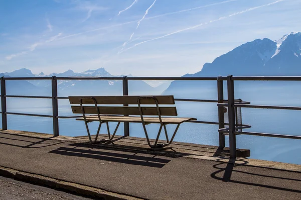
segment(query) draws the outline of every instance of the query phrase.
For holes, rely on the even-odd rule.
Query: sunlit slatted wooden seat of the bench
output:
[[[113,115],[100,115],[101,121],[103,122],[133,122],[141,123],[141,117],[134,116],[113,116]],[[84,121],[85,119],[76,118],[76,120]],[[98,116],[86,116],[87,122],[99,121]],[[158,117],[144,117],[144,122],[146,124],[157,123],[160,124],[160,119]],[[197,120],[195,118],[162,118],[164,124],[181,124],[183,122],[188,122],[191,120]]]

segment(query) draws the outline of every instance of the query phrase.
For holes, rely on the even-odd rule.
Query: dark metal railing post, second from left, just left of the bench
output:
[[[59,136],[59,119],[57,116],[59,115],[59,108],[58,108],[58,84],[56,76],[52,76],[51,79],[52,85],[52,118],[53,118],[53,136]]]

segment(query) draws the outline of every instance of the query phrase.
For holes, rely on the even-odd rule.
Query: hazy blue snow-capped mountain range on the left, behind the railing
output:
[[[113,76],[104,68],[87,70],[76,73],[72,70],[63,73],[52,73],[45,75],[43,72],[33,74],[31,70],[23,68],[13,72],[0,74],[6,77],[120,77]],[[121,75],[123,76],[123,75]],[[130,74],[127,76],[131,76]],[[51,95],[50,80],[14,80],[9,82],[7,92],[22,95]],[[169,83],[161,84],[157,87],[150,86],[142,80],[128,81],[129,94],[161,94]],[[25,94],[26,93],[26,94]],[[34,93],[34,94],[33,94]],[[46,94],[47,93],[47,94]],[[58,80],[58,93],[60,96],[68,95],[122,95],[122,81],[120,80]]]

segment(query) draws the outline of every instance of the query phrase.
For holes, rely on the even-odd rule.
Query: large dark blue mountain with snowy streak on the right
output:
[[[281,75],[301,76],[301,33],[292,32],[277,41],[256,39],[236,47],[232,51],[205,63],[202,70],[184,77],[216,77],[227,76],[260,76]],[[187,95],[189,90],[197,91],[206,81],[173,81],[164,94],[179,93],[183,90]],[[216,88],[216,82],[211,82]],[[215,89],[216,90],[216,89]]]

